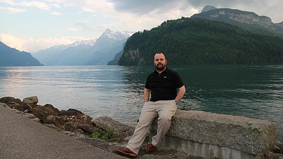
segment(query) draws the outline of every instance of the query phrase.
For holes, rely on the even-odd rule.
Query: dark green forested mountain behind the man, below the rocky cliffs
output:
[[[214,11],[213,9],[210,11]],[[208,12],[210,12],[208,11]],[[283,63],[283,39],[198,18],[168,20],[130,36],[118,64],[153,64],[157,51],[168,64]]]

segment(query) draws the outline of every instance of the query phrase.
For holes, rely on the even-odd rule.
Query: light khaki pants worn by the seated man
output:
[[[177,106],[175,100],[159,100],[145,102],[141,111],[141,116],[134,134],[127,144],[127,148],[135,154],[139,153],[139,149],[145,140],[146,133],[149,130],[153,120],[158,116],[157,135],[153,136],[152,144],[158,146],[162,138],[171,126],[171,118],[175,115]]]

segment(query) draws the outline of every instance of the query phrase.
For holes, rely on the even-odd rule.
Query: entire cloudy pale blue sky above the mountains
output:
[[[137,32],[190,17],[205,5],[283,21],[283,0],[0,0],[0,41],[34,53],[98,38],[107,28]]]

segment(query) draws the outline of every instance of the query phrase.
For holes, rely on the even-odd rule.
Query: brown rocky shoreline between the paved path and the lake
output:
[[[124,147],[130,136],[133,134],[134,127],[127,126],[110,117],[92,117],[76,109],[58,110],[51,104],[38,105],[37,96],[24,98],[23,101],[14,97],[1,97],[0,106],[4,106],[14,112],[30,118],[34,122],[41,123],[62,133],[69,135],[82,142],[88,143],[103,150],[113,152],[117,147]],[[112,136],[99,139],[93,138],[95,133],[111,132]],[[97,135],[96,135],[97,136]],[[143,144],[137,159],[204,159],[202,157],[190,156],[184,152],[175,150],[156,150],[153,153],[146,153],[145,145],[148,137]],[[265,159],[283,159],[283,143],[276,141],[276,147],[272,152],[265,154]]]

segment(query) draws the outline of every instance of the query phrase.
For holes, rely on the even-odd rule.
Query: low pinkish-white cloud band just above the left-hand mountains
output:
[[[30,53],[37,52],[38,50],[47,49],[51,46],[57,44],[71,44],[75,41],[81,40],[89,40],[85,37],[77,37],[77,36],[62,36],[59,38],[40,38],[40,39],[33,39],[33,38],[20,38],[13,36],[11,34],[0,34],[0,41],[4,44],[8,45],[9,47],[16,48],[20,51],[26,51]]]

